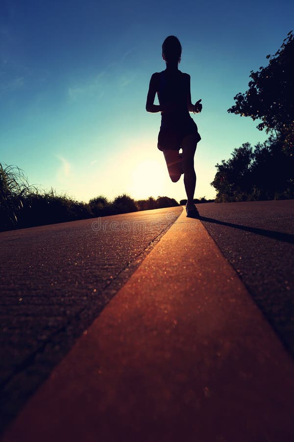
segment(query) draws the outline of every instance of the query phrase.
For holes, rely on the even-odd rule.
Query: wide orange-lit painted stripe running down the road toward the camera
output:
[[[183,211],[1,442],[290,442],[293,395],[290,354]]]

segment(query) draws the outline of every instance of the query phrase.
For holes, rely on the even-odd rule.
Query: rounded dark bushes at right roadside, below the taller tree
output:
[[[277,137],[254,148],[244,143],[216,167],[216,202],[294,197],[294,156],[285,155]]]

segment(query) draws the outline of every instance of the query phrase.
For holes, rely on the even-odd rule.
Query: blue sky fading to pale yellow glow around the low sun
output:
[[[185,198],[157,149],[160,113],[145,110],[161,45],[176,35],[191,75],[202,140],[196,197],[214,197],[216,168],[235,147],[267,138],[227,113],[250,70],[293,28],[293,1],[0,1],[0,162],[31,184],[76,199],[128,193]]]

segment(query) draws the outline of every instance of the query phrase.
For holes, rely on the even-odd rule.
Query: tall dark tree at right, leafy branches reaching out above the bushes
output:
[[[275,55],[267,55],[269,65],[250,71],[249,89],[239,92],[228,112],[260,119],[259,130],[275,131],[288,152],[294,151],[294,38],[288,32]]]

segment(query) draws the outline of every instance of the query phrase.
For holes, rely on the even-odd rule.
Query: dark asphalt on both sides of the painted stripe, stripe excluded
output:
[[[293,349],[294,201],[197,207],[253,299],[288,350]],[[2,428],[181,210],[0,233]]]

